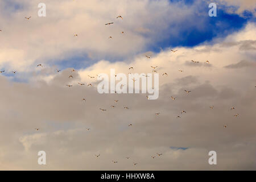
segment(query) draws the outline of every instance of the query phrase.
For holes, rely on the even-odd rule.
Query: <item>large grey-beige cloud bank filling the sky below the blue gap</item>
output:
[[[247,32],[255,32],[248,27],[253,26],[213,45],[177,47],[175,53],[163,50],[150,59],[138,55],[114,63],[101,60],[75,72],[67,68],[59,73],[46,65],[35,68],[27,82],[13,82],[0,75],[0,168],[255,169],[255,69],[224,68],[240,60],[253,61],[255,51],[242,51],[240,44],[221,47],[229,40],[248,40]],[[202,64],[209,60],[212,66],[191,67],[187,60]],[[131,65],[134,73],[152,73],[150,66],[158,65],[158,100],[147,100],[146,94],[99,94],[96,79],[88,77],[109,74],[110,68],[128,74]],[[162,76],[164,72],[167,77]],[[68,78],[71,74],[73,79]],[[232,106],[236,109],[230,110]],[[181,114],[182,110],[186,113]],[[46,166],[36,163],[40,150],[46,151]],[[217,152],[217,166],[208,164],[211,150]],[[152,159],[156,153],[163,155]],[[134,167],[133,162],[138,165]]]

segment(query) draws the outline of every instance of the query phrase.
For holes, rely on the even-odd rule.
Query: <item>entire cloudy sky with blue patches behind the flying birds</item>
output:
[[[0,169],[256,169],[253,0],[41,2],[0,1]],[[158,99],[98,93],[100,73],[151,66]]]

